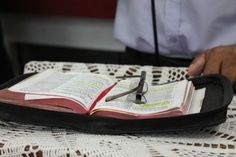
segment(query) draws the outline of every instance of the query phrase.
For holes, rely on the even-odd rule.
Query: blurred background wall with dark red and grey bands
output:
[[[116,0],[0,2],[3,43],[14,73],[30,60],[119,63]]]

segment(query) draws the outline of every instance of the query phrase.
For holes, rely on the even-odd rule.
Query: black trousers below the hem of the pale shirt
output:
[[[188,67],[192,59],[170,58],[156,54],[140,52],[135,49],[126,48],[125,54],[120,57],[121,64]]]

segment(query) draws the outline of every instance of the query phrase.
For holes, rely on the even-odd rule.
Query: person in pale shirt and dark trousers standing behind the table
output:
[[[169,62],[175,66],[172,63],[178,61],[176,66],[187,65],[190,76],[218,73],[235,82],[235,0],[155,0],[155,14],[151,8],[151,0],[118,1],[114,34],[127,46],[127,52],[141,56],[140,60],[145,60],[143,56],[155,58],[155,15],[157,65]],[[149,63],[155,64],[151,60]]]

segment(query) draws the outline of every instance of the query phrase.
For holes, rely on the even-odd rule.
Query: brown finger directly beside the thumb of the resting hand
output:
[[[222,57],[216,50],[212,49],[206,54],[206,63],[203,74],[219,74],[221,72]]]

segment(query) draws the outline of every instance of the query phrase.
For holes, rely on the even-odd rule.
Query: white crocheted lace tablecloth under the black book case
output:
[[[36,61],[26,64],[24,72],[48,68],[111,76],[146,70],[153,84],[184,79],[187,73],[185,68]],[[225,123],[191,132],[97,135],[0,121],[0,156],[236,157],[236,97],[228,108]]]

